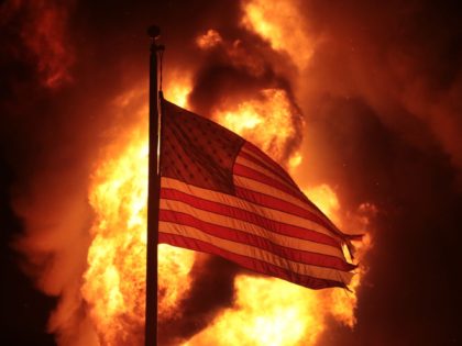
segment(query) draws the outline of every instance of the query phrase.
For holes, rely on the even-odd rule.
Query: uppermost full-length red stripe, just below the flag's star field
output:
[[[271,220],[262,215],[255,214],[253,212],[250,212],[248,210],[239,209],[239,208],[231,207],[228,204],[222,204],[219,202],[208,201],[202,198],[187,194],[178,190],[162,188],[161,198],[185,202],[197,209],[201,209],[208,212],[212,212],[220,215],[230,216],[233,219],[253,223],[260,227],[266,228],[274,233],[279,233],[283,235],[287,235],[287,236],[292,236],[292,237],[296,237],[296,238],[300,238],[305,241],[331,245],[337,248],[341,247],[339,245],[339,242],[336,238],[327,234],[319,233],[309,228],[294,226],[294,225],[286,224],[279,221]]]

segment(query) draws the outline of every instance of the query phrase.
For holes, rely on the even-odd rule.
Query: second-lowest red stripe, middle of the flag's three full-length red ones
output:
[[[160,221],[172,222],[175,224],[191,226],[197,230],[200,230],[204,233],[231,241],[234,243],[240,243],[243,245],[249,245],[253,247],[258,247],[264,250],[267,250],[279,257],[298,261],[305,265],[312,265],[317,267],[333,268],[343,271],[350,271],[356,266],[345,263],[339,257],[323,255],[318,253],[310,253],[295,248],[288,248],[280,246],[271,242],[268,238],[264,238],[254,234],[250,234],[243,231],[234,230],[231,227],[226,227],[212,223],[205,222],[193,215],[185,214],[182,212],[170,211],[170,210],[161,210],[160,211]]]

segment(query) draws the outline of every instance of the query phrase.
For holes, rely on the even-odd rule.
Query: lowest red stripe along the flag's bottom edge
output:
[[[158,242],[170,244],[174,246],[189,248],[196,252],[204,252],[207,254],[221,256],[226,259],[229,259],[253,271],[278,277],[280,279],[292,281],[297,284],[309,287],[311,289],[322,289],[322,288],[328,288],[328,287],[342,287],[342,288],[346,287],[341,281],[319,279],[319,278],[314,278],[307,275],[296,274],[294,271],[277,267],[266,261],[262,261],[262,260],[248,257],[248,256],[233,254],[231,252],[228,252],[226,249],[222,249],[209,243],[205,243],[198,239],[194,239],[194,238],[189,238],[189,237],[185,237],[185,236],[180,236],[176,234],[163,233],[162,230],[160,231],[160,234],[158,234]]]

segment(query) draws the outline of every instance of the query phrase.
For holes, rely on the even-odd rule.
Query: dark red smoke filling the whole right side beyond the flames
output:
[[[461,161],[461,26],[455,2],[310,1],[324,41],[307,71],[310,183],[372,202],[374,248],[353,331],[320,345],[455,345]],[[309,149],[315,148],[316,149]],[[309,169],[309,167],[307,167]]]

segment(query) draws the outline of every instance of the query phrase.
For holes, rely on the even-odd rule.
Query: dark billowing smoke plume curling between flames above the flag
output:
[[[227,42],[227,38],[219,36],[220,42],[206,49],[207,55],[196,72],[189,102],[200,114],[213,114],[222,105],[230,108],[231,104],[240,104],[250,94],[257,97],[268,89],[282,90],[290,103],[292,116],[286,127],[293,129],[293,133],[283,141],[279,155],[276,156],[286,164],[302,137],[301,112],[295,102],[287,75],[280,71],[288,64],[280,59],[272,62],[275,53],[261,38],[249,33],[241,33],[241,36],[246,40]],[[266,116],[271,122],[277,114],[271,114],[270,111]]]

